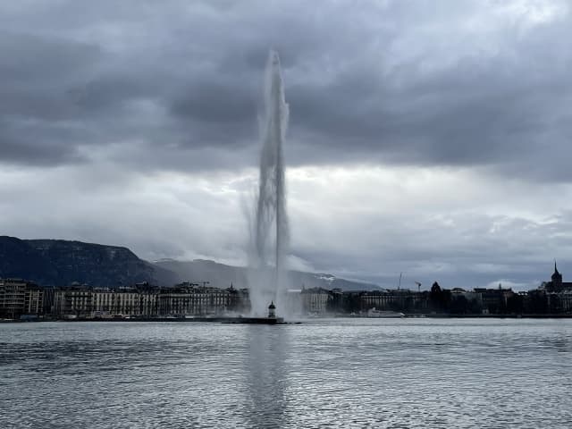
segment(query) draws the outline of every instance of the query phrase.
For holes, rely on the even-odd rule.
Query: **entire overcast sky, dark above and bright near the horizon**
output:
[[[0,4],[0,234],[245,264],[281,55],[293,267],[572,279],[572,3]]]

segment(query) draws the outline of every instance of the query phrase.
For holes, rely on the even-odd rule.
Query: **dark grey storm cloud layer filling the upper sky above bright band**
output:
[[[568,181],[539,164],[569,156],[569,15],[472,30],[472,14],[501,5],[452,3],[3,6],[2,160],[70,163],[123,140],[149,166],[177,147],[255,154],[272,46],[290,164],[501,164]]]

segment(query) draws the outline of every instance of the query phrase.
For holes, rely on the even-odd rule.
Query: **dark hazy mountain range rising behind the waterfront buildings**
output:
[[[172,286],[178,282],[208,282],[212,286],[248,287],[248,269],[196,259],[164,259],[150,263],[129,248],[68,240],[20,240],[0,236],[0,278],[21,278],[46,286],[119,286],[149,282]],[[290,283],[301,288],[375,290],[372,283],[352,282],[325,273],[290,272]]]

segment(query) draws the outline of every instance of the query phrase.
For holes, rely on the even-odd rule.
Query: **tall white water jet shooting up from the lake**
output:
[[[260,116],[262,153],[251,239],[253,252],[249,276],[254,315],[265,315],[271,301],[284,313],[286,305],[285,258],[289,248],[288,214],[282,143],[288,128],[288,105],[278,53],[270,51],[265,70],[264,111]]]

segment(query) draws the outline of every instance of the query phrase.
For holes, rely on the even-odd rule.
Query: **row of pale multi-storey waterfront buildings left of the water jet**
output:
[[[21,279],[0,280],[0,317],[50,315],[56,318],[155,317],[246,313],[248,290],[181,283],[161,288],[148,283],[129,287],[44,288]]]

